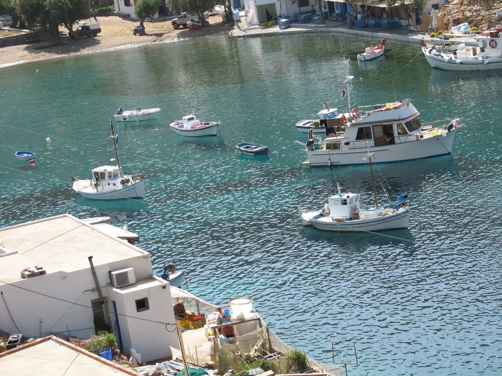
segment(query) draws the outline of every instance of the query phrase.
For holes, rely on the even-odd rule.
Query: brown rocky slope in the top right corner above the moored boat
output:
[[[471,27],[480,30],[487,29],[490,22],[490,14],[502,8],[502,0],[449,0],[443,9],[438,11],[438,16],[444,18],[448,27],[450,25],[450,9],[455,25],[468,22]],[[500,23],[501,18],[492,21]]]

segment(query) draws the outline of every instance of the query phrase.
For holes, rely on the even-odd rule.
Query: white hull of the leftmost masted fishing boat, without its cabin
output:
[[[109,187],[112,189],[109,189]],[[145,180],[132,181],[127,185],[123,185],[119,189],[115,189],[115,186],[121,186],[117,181],[115,184],[110,185],[100,185],[96,192],[93,185],[93,181],[90,179],[76,180],[73,183],[73,190],[90,200],[119,200],[119,199],[136,199],[143,197],[145,191]],[[101,191],[100,191],[101,190]]]

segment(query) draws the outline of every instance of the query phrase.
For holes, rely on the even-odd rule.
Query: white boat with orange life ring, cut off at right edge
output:
[[[422,52],[434,68],[447,71],[502,69],[502,28],[479,34],[444,34],[431,43],[421,41]]]

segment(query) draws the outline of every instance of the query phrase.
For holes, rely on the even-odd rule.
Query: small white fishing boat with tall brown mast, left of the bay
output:
[[[115,158],[111,161],[116,161],[116,165],[103,165],[91,169],[90,179],[77,179],[72,176],[73,190],[91,200],[141,198],[145,190],[143,174],[126,175],[122,172],[117,152],[118,135],[115,134],[111,121],[110,130],[109,138],[113,141],[115,151]]]

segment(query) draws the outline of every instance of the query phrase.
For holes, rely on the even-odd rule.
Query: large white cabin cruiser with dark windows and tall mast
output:
[[[346,60],[347,62],[348,60]],[[345,72],[347,64],[345,63]],[[353,76],[344,82],[350,105]],[[378,155],[373,163],[398,162],[448,155],[453,147],[462,118],[445,119],[422,124],[420,112],[411,100],[354,107],[342,114],[327,137],[311,136],[305,146],[307,160],[312,167],[363,164],[369,152]],[[299,143],[299,141],[296,141]]]

